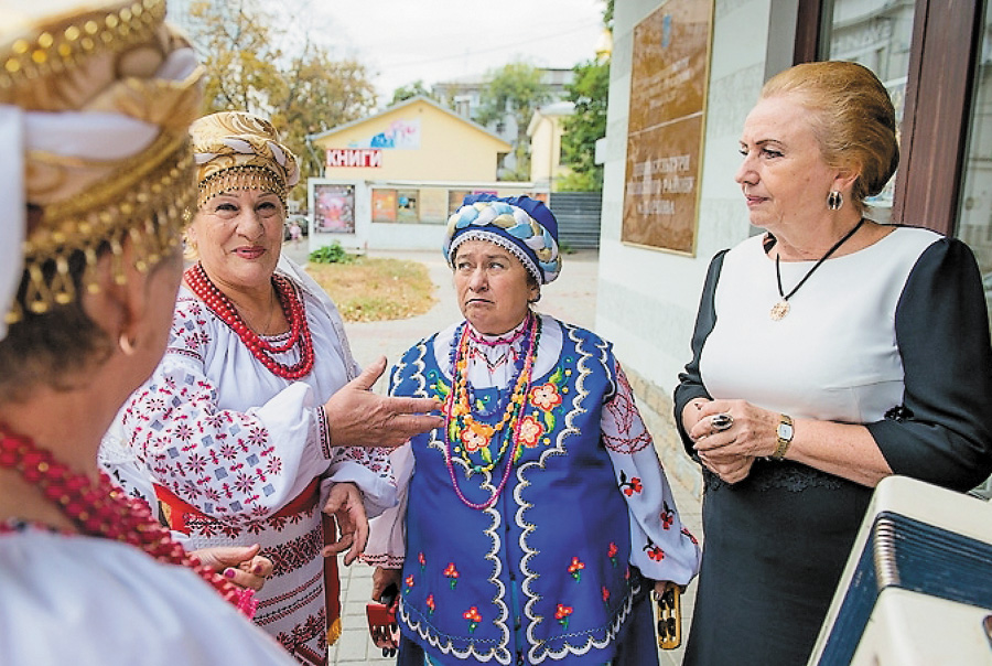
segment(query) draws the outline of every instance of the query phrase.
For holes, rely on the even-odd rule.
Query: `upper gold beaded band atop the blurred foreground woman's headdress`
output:
[[[138,0],[109,12],[74,17],[57,29],[13,42],[0,67],[0,90],[58,74],[101,52],[145,43],[165,17],[165,0]]]

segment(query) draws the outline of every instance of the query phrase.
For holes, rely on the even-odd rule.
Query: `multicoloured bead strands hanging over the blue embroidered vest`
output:
[[[485,410],[485,416],[495,416],[500,411],[503,412],[495,426],[483,423],[475,418],[478,410],[470,393],[467,372],[468,340],[471,337],[468,325],[463,322],[460,329],[455,331],[452,340],[452,387],[448,394],[448,401],[444,408],[444,463],[448,466],[448,474],[451,476],[451,483],[459,500],[465,506],[477,511],[489,508],[499,498],[503,488],[506,487],[514,462],[520,452],[520,437],[517,423],[527,405],[527,397],[530,395],[533,361],[541,335],[540,318],[535,316],[532,312],[528,312],[521,331],[524,332],[524,340],[520,343],[520,348],[524,353],[517,359],[517,367],[508,384],[508,386],[513,386],[513,390],[505,395],[505,400],[500,398],[496,408]],[[516,340],[516,336],[513,340]],[[457,343],[454,341],[457,341]],[[486,464],[477,464],[470,459],[464,439],[466,432],[470,436],[478,432],[485,433],[487,441],[478,450],[482,458],[487,461]],[[499,442],[499,448],[495,455],[489,450],[494,441]],[[510,449],[511,442],[513,448]],[[508,451],[508,449],[510,450]],[[472,473],[492,472],[504,458],[506,459],[499,485],[486,502],[481,504],[470,502],[462,493],[453,464],[455,454],[468,465],[470,475]]]

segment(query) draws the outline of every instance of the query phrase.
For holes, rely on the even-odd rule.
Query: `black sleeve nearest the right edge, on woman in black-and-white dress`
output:
[[[971,249],[942,238],[919,257],[895,313],[903,405],[866,423],[893,472],[967,491],[992,473],[992,344]]]

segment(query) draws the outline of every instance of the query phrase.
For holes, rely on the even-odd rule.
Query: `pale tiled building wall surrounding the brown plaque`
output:
[[[740,164],[740,131],[768,73],[790,64],[786,61],[795,39],[797,1],[715,2],[693,257],[621,241],[634,28],[664,2],[616,3],[596,331],[614,343],[666,468],[690,487],[699,487],[699,472],[678,441],[671,393],[691,358],[690,339],[710,259],[753,233],[733,180]]]

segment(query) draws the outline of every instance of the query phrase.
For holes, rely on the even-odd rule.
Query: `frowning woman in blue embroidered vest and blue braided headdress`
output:
[[[393,453],[401,504],[366,551],[373,597],[398,583],[401,664],[657,663],[648,593],[696,574],[610,343],[530,309],[557,237],[540,202],[467,197],[445,243],[465,321],[393,369],[393,395],[445,405]]]

